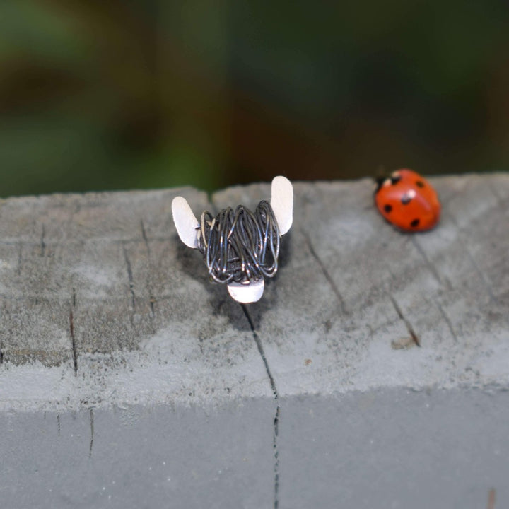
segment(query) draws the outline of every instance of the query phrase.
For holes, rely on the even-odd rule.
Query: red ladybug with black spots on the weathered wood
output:
[[[404,231],[431,230],[440,218],[440,201],[431,184],[406,168],[378,180],[375,204],[387,221]]]

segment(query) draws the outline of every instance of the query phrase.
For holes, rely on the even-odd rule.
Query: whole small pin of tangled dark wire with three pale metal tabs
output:
[[[276,275],[279,241],[293,221],[293,186],[274,177],[270,203],[262,200],[254,212],[243,205],[228,207],[198,221],[187,200],[175,197],[172,214],[180,240],[204,257],[211,281],[226,284],[230,296],[253,303],[264,292],[264,278]]]

